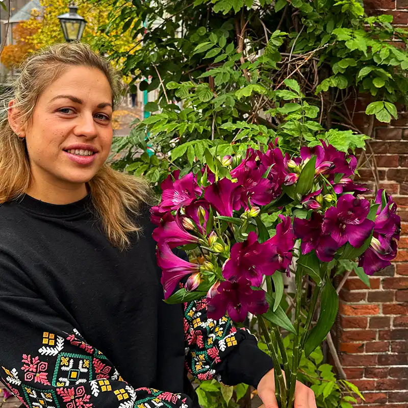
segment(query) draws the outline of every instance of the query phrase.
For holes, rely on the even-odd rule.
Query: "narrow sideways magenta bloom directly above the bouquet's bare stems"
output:
[[[275,271],[286,272],[289,276],[289,267],[292,263],[292,249],[295,235],[290,217],[279,215],[282,222],[276,226],[276,234],[262,245],[266,247],[269,262],[265,275],[272,275]]]

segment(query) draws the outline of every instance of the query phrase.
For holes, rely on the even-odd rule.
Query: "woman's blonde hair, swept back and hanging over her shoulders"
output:
[[[38,97],[69,66],[99,69],[111,86],[113,106],[120,101],[120,76],[106,59],[83,43],[56,44],[32,54],[21,65],[10,95],[21,123],[31,120]],[[7,109],[5,113],[0,121],[0,203],[22,196],[31,183],[25,143],[11,129]],[[105,163],[88,185],[108,239],[121,250],[129,247],[130,235],[140,232],[136,215],[152,196],[148,183],[140,177],[115,171]]]

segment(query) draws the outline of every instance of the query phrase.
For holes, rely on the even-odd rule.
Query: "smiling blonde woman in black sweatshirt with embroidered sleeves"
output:
[[[0,369],[25,406],[196,406],[186,372],[258,387],[270,358],[205,301],[162,301],[143,180],[105,161],[119,79],[84,44],[21,67],[0,129]],[[185,348],[186,341],[186,348]],[[297,407],[315,407],[297,386]]]

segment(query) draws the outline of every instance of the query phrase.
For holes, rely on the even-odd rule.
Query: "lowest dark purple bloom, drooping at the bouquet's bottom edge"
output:
[[[207,299],[210,319],[219,320],[228,312],[232,320],[243,322],[248,312],[261,315],[268,311],[263,290],[251,289],[250,282],[241,277],[237,282],[221,282],[217,294]]]

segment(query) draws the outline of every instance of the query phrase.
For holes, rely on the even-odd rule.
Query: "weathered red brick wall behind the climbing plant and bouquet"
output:
[[[365,0],[366,11],[392,14],[408,26],[408,0]],[[368,118],[356,114],[360,129]],[[360,123],[358,123],[360,122]],[[378,166],[379,187],[392,193],[402,222],[396,262],[371,279],[371,289],[351,276],[340,301],[340,359],[347,375],[366,401],[360,408],[408,408],[408,112],[390,125],[375,122],[370,143]],[[371,168],[360,171],[373,181]]]

